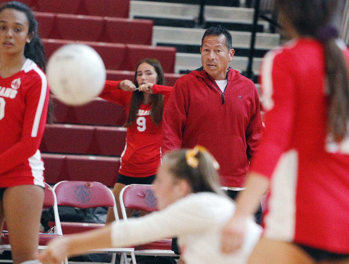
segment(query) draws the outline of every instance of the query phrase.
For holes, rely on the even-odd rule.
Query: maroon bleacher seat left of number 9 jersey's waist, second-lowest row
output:
[[[97,154],[121,156],[126,142],[126,129],[124,127],[97,126],[95,135],[96,145],[98,146],[96,149]]]

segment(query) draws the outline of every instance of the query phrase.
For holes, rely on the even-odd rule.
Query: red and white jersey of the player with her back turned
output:
[[[349,254],[349,139],[337,144],[327,134],[320,42],[304,38],[269,52],[261,92],[266,130],[251,170],[270,179],[264,235]]]

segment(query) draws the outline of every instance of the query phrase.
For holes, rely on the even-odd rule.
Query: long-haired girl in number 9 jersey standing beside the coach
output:
[[[155,59],[141,60],[130,80],[106,81],[99,97],[126,108],[126,145],[113,193],[116,201],[129,184],[151,184],[161,164],[162,111],[172,87],[165,86],[164,72]],[[120,206],[118,206],[120,210]],[[132,213],[128,211],[128,215]],[[121,215],[121,211],[119,211]],[[106,223],[114,220],[108,211]]]

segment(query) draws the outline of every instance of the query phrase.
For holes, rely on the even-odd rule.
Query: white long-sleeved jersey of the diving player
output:
[[[144,244],[162,238],[178,237],[187,264],[243,264],[257,243],[262,228],[248,219],[242,248],[235,254],[221,253],[221,231],[233,216],[235,204],[214,193],[190,194],[166,209],[141,218],[112,224],[114,247]]]

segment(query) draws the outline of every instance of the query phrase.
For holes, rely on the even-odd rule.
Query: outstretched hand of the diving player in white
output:
[[[47,244],[47,249],[39,253],[39,261],[43,264],[60,264],[68,255],[68,239],[57,238]]]

